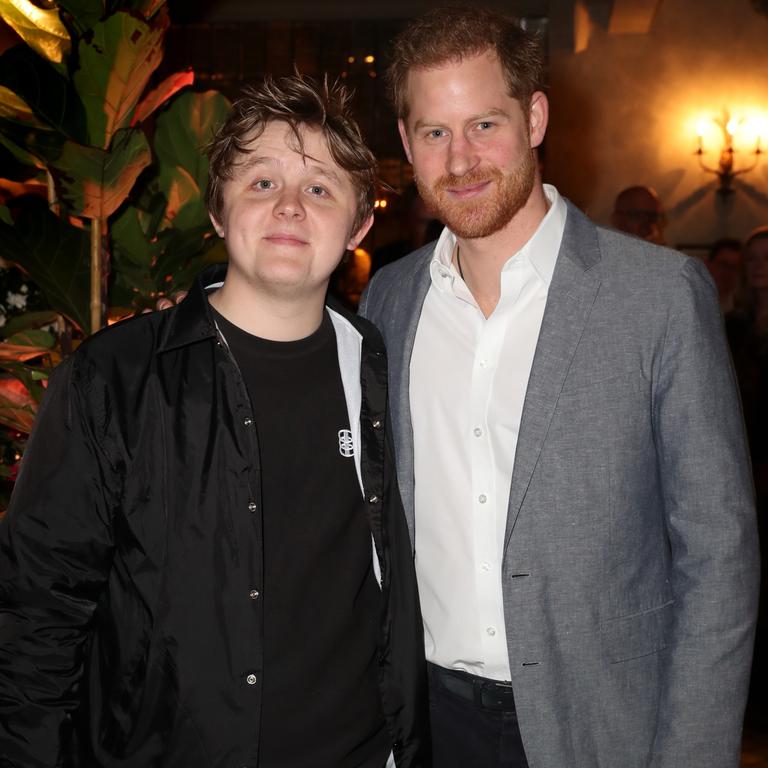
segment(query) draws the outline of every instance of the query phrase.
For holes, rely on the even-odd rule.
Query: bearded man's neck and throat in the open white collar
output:
[[[512,254],[517,253],[533,236],[544,217],[549,203],[544,187],[537,181],[525,205],[498,232],[487,237],[457,238],[457,267],[475,301],[489,317],[501,295],[501,269]]]

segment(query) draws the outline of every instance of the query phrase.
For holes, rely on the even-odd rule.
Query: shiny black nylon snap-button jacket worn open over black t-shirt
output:
[[[0,766],[258,766],[257,436],[204,290],[225,269],[54,373],[0,524]],[[337,311],[363,339],[382,703],[397,766],[415,768],[429,764],[423,634],[386,356]]]

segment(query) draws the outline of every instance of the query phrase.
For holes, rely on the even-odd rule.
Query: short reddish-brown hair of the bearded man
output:
[[[435,8],[411,21],[395,37],[387,67],[389,97],[395,113],[408,117],[408,74],[491,51],[501,64],[509,94],[527,115],[531,97],[544,89],[544,57],[538,37],[514,16],[490,8]]]

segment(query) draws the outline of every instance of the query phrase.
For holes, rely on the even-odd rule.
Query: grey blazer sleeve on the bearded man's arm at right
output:
[[[687,260],[654,388],[675,600],[650,765],[739,765],[759,582],[754,493],[717,295]]]

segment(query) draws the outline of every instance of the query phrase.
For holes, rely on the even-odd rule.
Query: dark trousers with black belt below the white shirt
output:
[[[511,685],[428,666],[433,767],[528,768]]]

